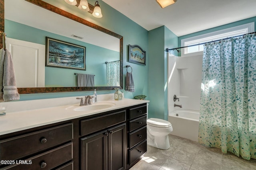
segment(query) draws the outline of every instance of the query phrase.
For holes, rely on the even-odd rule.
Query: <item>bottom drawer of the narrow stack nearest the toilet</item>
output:
[[[129,164],[133,164],[136,160],[140,158],[147,151],[147,141],[138,145],[136,148],[129,150]]]

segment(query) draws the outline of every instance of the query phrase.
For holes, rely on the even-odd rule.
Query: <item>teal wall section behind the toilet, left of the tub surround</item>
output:
[[[149,72],[148,89],[150,104],[148,117],[166,119],[168,117],[167,100],[167,53],[168,47],[177,47],[178,37],[166,26],[148,31]]]

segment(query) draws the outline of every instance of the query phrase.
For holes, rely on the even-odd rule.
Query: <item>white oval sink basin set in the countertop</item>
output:
[[[92,105],[87,105],[87,106],[70,106],[67,107],[67,109],[72,109],[74,111],[93,111],[93,110],[100,110],[100,109],[106,109],[112,106],[115,106],[116,104],[114,103],[93,103]]]

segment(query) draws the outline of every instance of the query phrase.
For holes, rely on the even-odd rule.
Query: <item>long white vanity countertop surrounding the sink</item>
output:
[[[76,97],[72,97],[72,98],[76,98]],[[66,101],[68,101],[68,99],[70,98],[66,98]],[[6,103],[7,113],[4,116],[0,116],[0,135],[149,102],[148,100],[135,100],[135,99],[114,100],[114,99],[108,98],[108,100],[100,100],[96,104],[103,102],[103,103],[112,103],[114,104],[114,106],[108,107],[106,109],[97,109],[92,111],[74,111],[73,109],[66,109],[66,108],[74,105],[79,106],[80,102],[78,100],[74,100],[76,102],[75,104],[73,104],[74,102],[71,102],[72,104],[69,103],[68,105],[66,104],[61,105],[60,104],[61,102],[60,102],[58,105],[61,105],[61,106],[55,106],[55,107],[51,106],[52,100],[54,99],[36,101],[36,103],[38,103],[39,106],[40,106],[40,103],[41,104],[44,102],[48,103],[49,104],[48,106],[50,107],[45,105],[46,106],[45,108],[40,108],[42,106],[40,107],[33,106],[34,108],[31,106],[30,107],[24,106],[24,103],[28,105],[33,103],[29,101],[21,102],[20,104],[16,104],[16,102],[10,102],[8,104]],[[55,100],[65,101],[65,98],[64,99],[58,98]],[[4,105],[4,104],[1,103],[1,105]],[[12,112],[8,112],[8,107],[18,107],[20,105],[22,105],[22,108],[20,109],[21,111],[19,111],[16,108],[16,110]],[[94,103],[92,105],[94,105]],[[83,107],[86,107],[86,106],[83,106]],[[26,110],[25,108],[29,108],[29,109]],[[12,109],[9,109],[9,110],[12,110]]]

